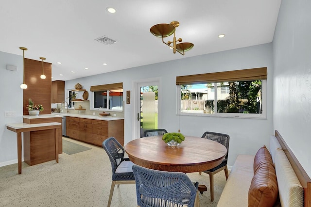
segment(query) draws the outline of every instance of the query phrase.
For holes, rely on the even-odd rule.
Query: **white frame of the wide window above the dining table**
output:
[[[180,86],[176,85],[176,114],[182,116],[208,116],[208,117],[225,117],[225,118],[246,118],[246,119],[267,119],[267,80],[261,80],[262,90],[262,109],[261,113],[182,113],[180,112]],[[216,90],[215,90],[216,91]],[[215,93],[215,100],[217,100],[217,93]]]

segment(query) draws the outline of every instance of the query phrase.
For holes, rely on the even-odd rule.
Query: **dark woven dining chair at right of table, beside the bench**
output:
[[[210,200],[213,201],[214,200],[214,174],[222,170],[225,170],[225,178],[228,179],[228,176],[229,176],[227,162],[228,162],[229,138],[230,137],[227,134],[206,131],[202,135],[202,138],[221,143],[227,148],[227,154],[225,155],[225,158],[223,159],[223,162],[220,165],[212,169],[203,171],[204,173],[207,173],[209,175]],[[201,175],[201,172],[200,172],[200,175]],[[201,191],[201,194],[202,193],[203,192]]]

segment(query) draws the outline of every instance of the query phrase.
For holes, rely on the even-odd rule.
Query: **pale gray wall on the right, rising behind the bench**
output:
[[[311,1],[282,0],[275,36],[274,127],[311,176]]]

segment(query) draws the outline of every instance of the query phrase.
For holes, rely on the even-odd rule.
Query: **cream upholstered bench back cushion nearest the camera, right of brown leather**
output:
[[[283,150],[276,150],[276,175],[282,207],[303,207],[303,188]]]

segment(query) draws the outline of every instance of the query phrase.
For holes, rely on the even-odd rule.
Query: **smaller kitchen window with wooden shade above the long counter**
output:
[[[123,83],[91,86],[91,110],[122,111]]]

